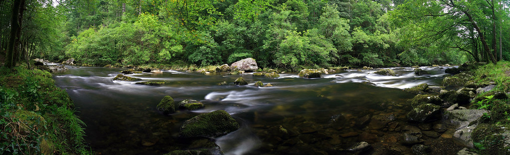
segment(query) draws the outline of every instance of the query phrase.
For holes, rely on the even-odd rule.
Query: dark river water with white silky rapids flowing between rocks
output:
[[[187,147],[179,138],[182,122],[215,110],[227,111],[241,125],[215,139],[225,154],[325,154],[358,141],[375,143],[374,147],[395,143],[395,131],[406,125],[410,110],[406,100],[414,97],[402,89],[439,85],[446,68],[422,67],[431,75],[420,76],[414,68],[392,69],[398,76],[373,74],[376,70],[347,70],[317,79],[181,71],[129,75],[169,81],[147,86],[112,81],[122,68],[69,67],[54,79],[74,101],[77,115],[87,125],[85,139],[96,154],[164,154]],[[249,84],[233,85],[238,77]],[[218,86],[222,81],[230,85]],[[257,87],[256,81],[273,86]],[[176,103],[198,100],[206,107],[163,115],[156,105],[164,96]],[[374,119],[378,117],[391,117],[393,123],[378,127]],[[370,118],[370,123],[364,121]]]

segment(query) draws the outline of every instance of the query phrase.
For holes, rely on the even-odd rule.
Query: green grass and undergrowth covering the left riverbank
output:
[[[92,154],[84,125],[50,73],[0,68],[0,154]]]

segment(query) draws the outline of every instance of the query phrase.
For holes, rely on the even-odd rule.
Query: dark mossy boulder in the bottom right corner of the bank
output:
[[[510,125],[481,124],[472,134],[476,149],[481,154],[509,154]]]

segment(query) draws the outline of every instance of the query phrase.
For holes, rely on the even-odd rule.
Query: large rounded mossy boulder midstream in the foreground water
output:
[[[182,137],[214,138],[239,129],[239,123],[224,110],[203,113],[186,120],[181,127]]]

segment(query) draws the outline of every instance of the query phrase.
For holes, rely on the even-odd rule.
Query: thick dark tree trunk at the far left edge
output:
[[[17,31],[19,29],[18,23],[18,15],[19,15],[19,6],[21,5],[21,0],[14,0],[14,4],[12,5],[12,16],[11,16],[11,36],[9,38],[9,45],[5,58],[5,67],[12,68],[14,66],[14,44],[16,43]]]

